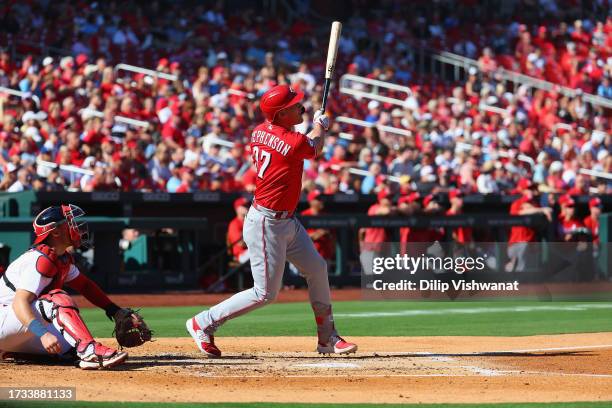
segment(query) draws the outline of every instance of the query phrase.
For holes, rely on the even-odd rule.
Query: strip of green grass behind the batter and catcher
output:
[[[143,308],[141,313],[156,336],[186,337],[185,320],[201,310],[202,307],[151,307]],[[334,313],[336,326],[346,336],[528,336],[612,331],[609,302],[357,301],[336,302]],[[82,314],[94,336],[111,336],[113,326],[101,310],[83,309]],[[229,321],[218,332],[219,336],[314,333],[314,319],[307,303],[268,305]]]

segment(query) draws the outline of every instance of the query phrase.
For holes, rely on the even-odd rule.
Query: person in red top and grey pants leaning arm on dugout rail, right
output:
[[[552,221],[552,209],[550,207],[541,208],[535,202],[536,186],[529,179],[519,180],[517,190],[521,197],[515,200],[510,206],[510,215],[533,215],[544,214],[548,221]],[[508,257],[510,261],[506,264],[507,272],[524,271],[530,255],[528,243],[535,242],[536,231],[533,228],[516,226],[510,229],[508,239]]]

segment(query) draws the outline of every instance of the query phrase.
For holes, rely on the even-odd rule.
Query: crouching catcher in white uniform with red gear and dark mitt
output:
[[[121,346],[151,339],[151,331],[131,309],[113,303],[75,266],[70,249],[90,245],[85,213],[75,205],[46,208],[34,219],[33,246],[0,278],[0,350],[74,358],[84,370],[123,363],[128,354],[97,342],[64,284],[80,292],[115,321]]]

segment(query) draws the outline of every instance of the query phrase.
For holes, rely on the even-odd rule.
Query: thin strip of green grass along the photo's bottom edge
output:
[[[510,403],[510,404],[283,404],[283,403],[155,403],[155,402],[11,402],[1,405],[6,407],[32,407],[32,408],[589,408],[609,407],[610,402],[560,402],[560,403]]]

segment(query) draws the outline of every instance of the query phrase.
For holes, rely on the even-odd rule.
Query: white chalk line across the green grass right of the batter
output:
[[[501,306],[501,307],[467,307],[445,309],[410,309],[390,312],[347,312],[334,313],[336,318],[369,318],[369,317],[412,317],[440,316],[448,314],[480,314],[480,313],[528,313],[528,312],[584,312],[587,310],[612,309],[612,303],[579,303],[572,305],[532,305],[532,306]]]

